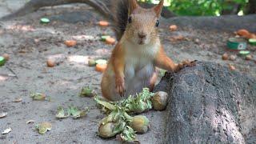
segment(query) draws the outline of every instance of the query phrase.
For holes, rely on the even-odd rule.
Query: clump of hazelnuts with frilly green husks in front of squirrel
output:
[[[142,113],[152,109],[150,98],[153,96],[154,93],[145,88],[136,96],[130,96],[119,102],[105,102],[95,97],[94,99],[99,105],[109,110],[106,118],[100,122],[98,135],[102,138],[110,138],[119,134],[122,141],[134,142],[136,139],[134,129],[139,133],[146,133],[150,122],[145,116],[131,117],[127,113]],[[130,126],[133,126],[134,129]]]

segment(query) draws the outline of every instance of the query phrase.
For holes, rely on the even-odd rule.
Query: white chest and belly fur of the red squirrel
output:
[[[125,58],[125,96],[138,94],[144,87],[150,87],[150,78],[156,73],[154,57],[160,47],[160,42],[136,46],[123,42],[126,50]],[[131,48],[132,47],[132,48]],[[137,49],[137,50],[134,50]]]

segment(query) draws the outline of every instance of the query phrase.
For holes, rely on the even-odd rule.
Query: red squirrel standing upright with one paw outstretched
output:
[[[117,101],[141,92],[144,87],[153,90],[158,77],[156,66],[176,72],[193,63],[174,63],[162,47],[158,26],[163,2],[144,9],[136,0],[118,1],[115,11],[118,43],[102,77],[104,98]]]

